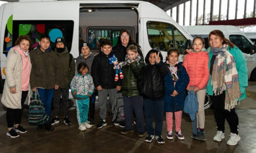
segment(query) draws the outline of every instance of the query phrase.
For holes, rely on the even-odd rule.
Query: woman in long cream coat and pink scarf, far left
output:
[[[27,130],[21,125],[22,108],[24,101],[30,100],[30,72],[31,63],[29,49],[31,40],[26,35],[17,38],[15,46],[9,50],[6,65],[6,81],[3,87],[2,103],[7,107],[6,121],[8,125],[7,136],[19,137],[19,133],[26,133]],[[13,127],[13,124],[15,126]]]

